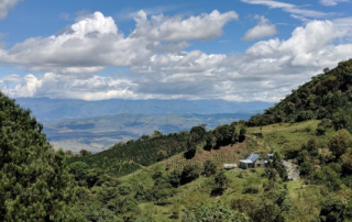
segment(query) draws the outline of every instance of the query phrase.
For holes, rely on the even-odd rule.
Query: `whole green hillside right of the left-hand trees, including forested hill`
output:
[[[88,221],[352,221],[351,64],[248,122],[194,126],[173,140],[183,148],[164,135],[72,157],[74,211]],[[252,152],[267,166],[223,169]],[[120,174],[122,159],[139,167]],[[298,167],[298,180],[282,160]]]

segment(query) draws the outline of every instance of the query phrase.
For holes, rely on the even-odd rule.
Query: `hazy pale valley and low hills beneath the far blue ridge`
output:
[[[176,133],[201,123],[207,129],[235,120],[248,120],[251,114],[117,114],[77,120],[61,120],[44,123],[44,133],[55,148],[78,152],[82,148],[91,152],[103,151],[111,145],[139,138],[143,134],[160,131],[164,134]]]

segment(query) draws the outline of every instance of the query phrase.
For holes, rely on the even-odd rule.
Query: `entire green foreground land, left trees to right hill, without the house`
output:
[[[352,221],[351,63],[248,122],[155,131],[68,163],[0,95],[0,221]],[[266,166],[223,169],[251,153]]]

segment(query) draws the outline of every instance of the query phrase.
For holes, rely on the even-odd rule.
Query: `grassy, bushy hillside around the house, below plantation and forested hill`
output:
[[[87,182],[97,169],[81,166],[84,200],[75,209],[91,221],[105,221],[98,209],[121,221],[349,221],[352,136],[333,127],[317,135],[319,123],[249,127],[243,143],[198,146],[190,159],[178,154],[119,178],[100,173],[95,185]],[[253,135],[258,131],[263,137]],[[238,163],[250,152],[279,155],[267,168],[223,171],[217,163],[219,154]],[[299,180],[282,174],[279,158],[300,166]]]

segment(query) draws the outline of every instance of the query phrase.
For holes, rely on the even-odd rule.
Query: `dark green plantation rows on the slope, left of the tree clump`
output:
[[[99,167],[117,176],[128,175],[142,166],[186,151],[187,136],[180,134],[160,135],[147,140],[129,141],[117,144],[96,155],[73,157],[70,163],[84,162],[90,167]]]

